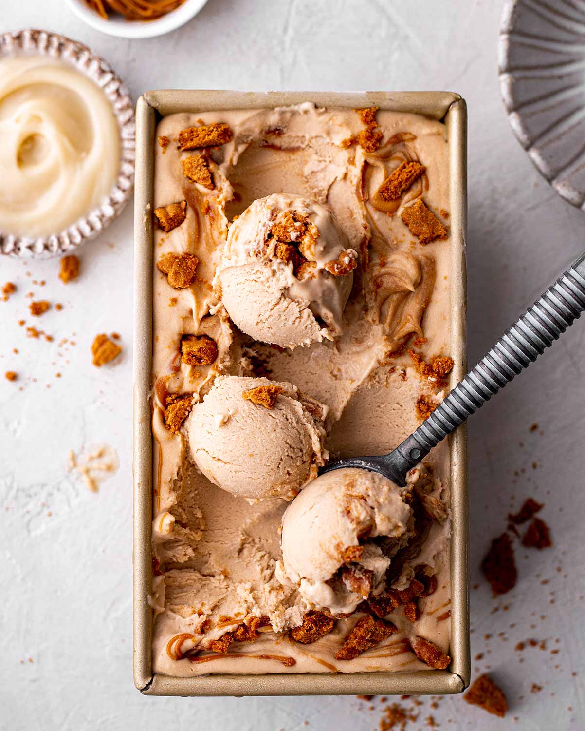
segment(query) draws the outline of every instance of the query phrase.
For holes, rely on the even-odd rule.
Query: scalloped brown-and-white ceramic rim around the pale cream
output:
[[[110,193],[101,204],[88,211],[63,231],[42,238],[16,236],[0,231],[0,254],[12,257],[56,257],[80,246],[85,240],[95,238],[121,213],[134,185],[134,156],[136,125],[134,107],[126,86],[110,66],[89,48],[64,36],[26,29],[0,34],[0,59],[20,53],[45,54],[72,64],[104,90],[118,121],[121,139],[121,159]]]

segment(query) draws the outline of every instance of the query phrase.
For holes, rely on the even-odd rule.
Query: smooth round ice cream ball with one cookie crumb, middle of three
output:
[[[232,495],[291,499],[328,456],[326,411],[290,383],[220,376],[186,421],[191,458]]]

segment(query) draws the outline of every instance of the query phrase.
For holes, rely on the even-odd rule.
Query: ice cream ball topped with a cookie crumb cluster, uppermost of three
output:
[[[294,348],[341,334],[356,262],[328,208],[275,193],[229,227],[215,287],[243,333]]]

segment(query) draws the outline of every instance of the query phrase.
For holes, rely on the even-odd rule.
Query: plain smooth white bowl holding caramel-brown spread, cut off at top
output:
[[[177,7],[177,10],[172,10],[158,20],[145,22],[124,20],[118,16],[104,20],[94,10],[91,10],[84,0],[67,0],[67,2],[75,15],[96,31],[102,31],[102,33],[118,38],[153,38],[184,26],[188,20],[197,15],[207,0],[185,0],[183,5]]]

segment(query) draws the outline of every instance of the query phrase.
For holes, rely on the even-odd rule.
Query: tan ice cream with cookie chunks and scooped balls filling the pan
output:
[[[155,672],[448,666],[448,449],[388,452],[448,389],[443,124],[177,114],[156,145]]]

